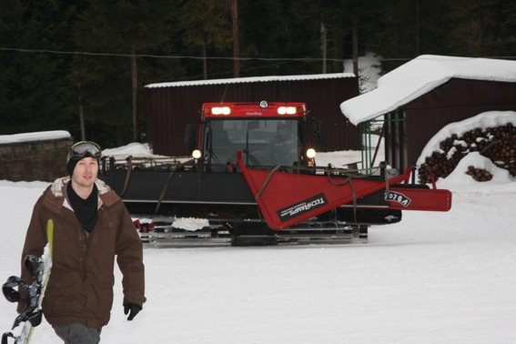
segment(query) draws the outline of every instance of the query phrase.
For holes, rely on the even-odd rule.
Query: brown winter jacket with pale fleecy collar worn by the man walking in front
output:
[[[98,179],[98,220],[86,238],[86,231],[63,196],[69,180],[70,177],[57,179],[35,204],[22,255],[22,278],[32,281],[23,259],[27,254],[43,254],[46,223],[52,218],[53,266],[43,314],[51,325],[79,323],[100,328],[109,321],[113,305],[115,256],[124,275],[124,303],[142,306],[146,301],[142,243],[120,197]],[[22,290],[20,294],[25,297]],[[20,304],[18,311],[22,310]]]

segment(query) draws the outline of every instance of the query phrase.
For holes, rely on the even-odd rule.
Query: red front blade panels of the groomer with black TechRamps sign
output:
[[[420,187],[391,187],[410,179],[405,175],[389,180],[370,180],[364,177],[333,177],[313,174],[248,169],[237,154],[242,170],[268,227],[281,230],[297,225],[336,207],[355,202],[361,197],[389,189],[384,207],[402,210],[448,211],[451,193]],[[389,187],[387,187],[389,186]],[[367,206],[366,206],[367,207]]]

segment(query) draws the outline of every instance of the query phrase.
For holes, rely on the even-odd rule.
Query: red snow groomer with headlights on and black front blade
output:
[[[317,166],[324,126],[307,115],[305,103],[206,103],[187,126],[192,158],[104,157],[99,177],[158,247],[366,242],[403,210],[450,210],[450,191],[410,169]]]

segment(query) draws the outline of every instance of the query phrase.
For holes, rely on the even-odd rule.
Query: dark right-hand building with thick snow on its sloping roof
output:
[[[486,111],[516,111],[516,62],[419,56],[340,108],[354,125],[384,123],[386,160],[404,171],[443,126]]]

